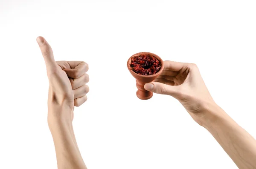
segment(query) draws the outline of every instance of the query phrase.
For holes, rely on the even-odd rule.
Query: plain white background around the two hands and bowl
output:
[[[48,80],[36,42],[55,60],[89,64],[73,121],[88,169],[236,169],[170,96],[136,96],[137,52],[196,63],[215,101],[256,137],[254,0],[0,0],[0,168],[56,169]]]

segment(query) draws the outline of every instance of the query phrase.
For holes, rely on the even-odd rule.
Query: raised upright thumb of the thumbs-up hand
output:
[[[38,42],[38,45],[44,57],[47,71],[49,71],[49,69],[52,69],[56,66],[56,63],[53,57],[52,48],[49,45],[49,43],[47,43],[47,41],[44,39],[44,37],[37,37],[36,41]]]

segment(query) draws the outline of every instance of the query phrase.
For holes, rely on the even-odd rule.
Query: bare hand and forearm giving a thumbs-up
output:
[[[49,80],[48,126],[52,134],[58,169],[87,169],[73,131],[74,106],[87,100],[88,65],[82,61],[56,61],[43,37],[37,37]]]

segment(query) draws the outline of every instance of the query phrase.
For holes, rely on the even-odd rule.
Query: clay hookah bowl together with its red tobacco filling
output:
[[[140,52],[128,59],[127,67],[131,75],[136,79],[137,97],[141,100],[150,99],[153,93],[145,90],[144,85],[154,81],[161,74],[163,60],[156,54]]]

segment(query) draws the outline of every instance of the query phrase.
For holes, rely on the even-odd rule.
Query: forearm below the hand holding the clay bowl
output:
[[[256,168],[256,140],[218,106],[207,108],[204,127],[239,169]]]

